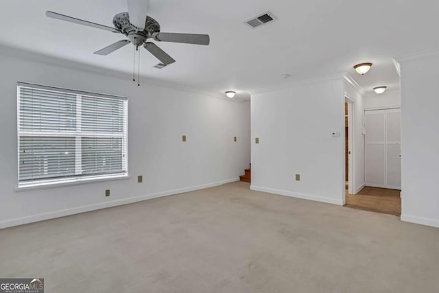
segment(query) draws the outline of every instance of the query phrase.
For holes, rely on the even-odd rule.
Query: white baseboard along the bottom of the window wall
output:
[[[95,211],[98,209],[106,209],[108,207],[117,207],[123,204],[131,204],[134,202],[141,202],[143,200],[151,200],[153,198],[161,198],[163,196],[172,196],[174,194],[182,194],[189,191],[195,191],[199,189],[205,189],[209,187],[215,187],[219,185],[224,185],[227,183],[233,183],[239,181],[239,178],[233,178],[229,180],[219,181],[215,183],[208,183],[204,185],[196,185],[192,187],[185,187],[181,189],[174,189],[169,191],[158,192],[155,194],[147,194],[145,196],[137,196],[134,198],[123,198],[121,200],[112,200],[110,202],[99,202],[98,204],[89,204],[82,207],[74,207],[72,209],[62,209],[60,211],[51,211],[49,213],[40,213],[37,215],[29,215],[23,218],[15,218],[11,220],[4,220],[0,222],[0,229],[8,228],[12,226],[19,226],[23,224],[29,224],[34,222],[40,222],[44,220],[50,220],[54,218],[65,217],[67,215],[75,215],[77,213],[86,213],[87,211]]]

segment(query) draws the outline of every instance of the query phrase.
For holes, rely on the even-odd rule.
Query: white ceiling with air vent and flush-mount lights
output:
[[[126,0],[4,0],[0,9],[3,45],[132,72],[131,45],[93,54],[123,35],[45,16],[51,10],[112,26]],[[257,29],[244,24],[268,10],[278,20]],[[366,91],[397,89],[392,58],[439,47],[438,12],[433,0],[150,0],[149,14],[162,32],[209,34],[211,45],[159,43],[177,62],[154,69],[158,60],[143,50],[141,75],[224,93],[347,72]],[[374,66],[360,76],[353,70],[359,62]]]

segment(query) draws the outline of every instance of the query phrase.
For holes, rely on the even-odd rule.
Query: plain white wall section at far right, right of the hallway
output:
[[[401,63],[401,220],[439,227],[439,51]]]

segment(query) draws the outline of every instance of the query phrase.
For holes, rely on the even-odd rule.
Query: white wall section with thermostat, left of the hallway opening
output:
[[[251,119],[251,189],[344,204],[342,75],[252,93]]]

